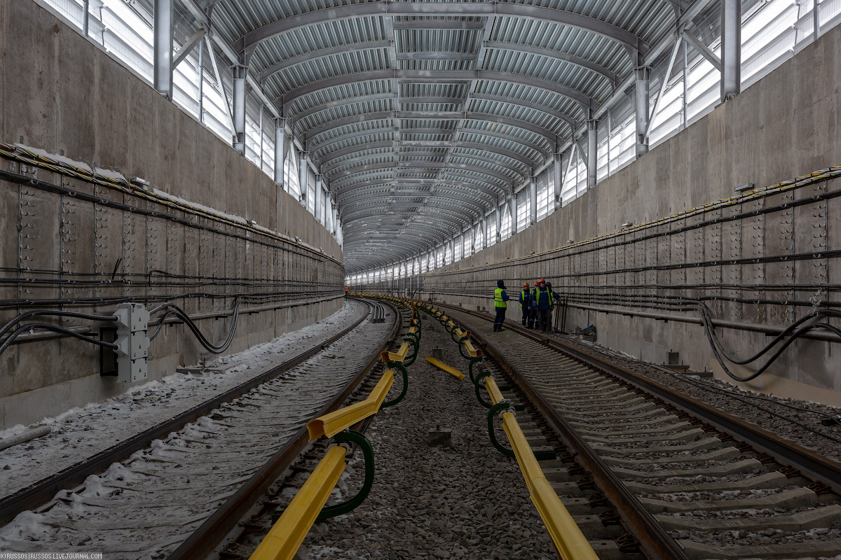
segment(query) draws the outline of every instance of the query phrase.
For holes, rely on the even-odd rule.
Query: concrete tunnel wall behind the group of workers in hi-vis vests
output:
[[[714,296],[717,299],[708,302],[713,316],[733,324],[717,329],[725,348],[740,357],[753,354],[770,337],[744,328],[787,327],[809,312],[811,306],[784,302],[809,301],[816,291],[779,290],[773,286],[838,285],[841,263],[836,256],[736,265],[727,264],[727,260],[841,249],[841,201],[829,198],[682,233],[677,230],[705,219],[726,218],[733,212],[762,210],[833,193],[841,190],[841,179],[819,181],[643,232],[664,233],[658,240],[635,241],[643,233],[627,233],[573,249],[563,247],[570,239],[581,242],[617,232],[623,222],[641,224],[734,196],[734,187],[744,183],[767,186],[841,163],[839,86],[841,27],[835,27],[732,101],[601,181],[595,190],[501,243],[423,275],[421,297],[472,309],[490,309],[497,278],[506,280],[516,299],[523,280],[545,277],[562,293],[581,294],[582,300],[589,298],[578,308],[570,307],[568,331],[594,324],[598,342],[610,348],[657,363],[665,363],[669,351],[678,352],[684,364],[697,370],[711,369],[725,379],[700,325],[622,314],[695,318],[697,313],[663,311],[645,303],[621,307],[618,301],[605,301],[605,295],[618,291],[626,300],[652,295]],[[675,233],[669,233],[673,230]],[[625,243],[621,249],[607,247],[617,241]],[[541,253],[555,248],[560,249],[550,260],[525,257],[516,263],[505,263],[506,259],[532,251]],[[715,264],[693,265],[705,260]],[[658,266],[663,268],[657,270]],[[633,267],[650,268],[617,271]],[[408,280],[410,285],[412,280]],[[681,288],[716,284],[746,287]],[[376,288],[388,289],[389,284],[380,283]],[[775,302],[754,305],[730,301],[740,296]],[[829,300],[828,306],[837,306],[838,292],[829,290],[827,296],[824,291],[818,299]],[[520,306],[510,306],[509,314],[518,319]],[[830,322],[838,324],[834,319]],[[738,366],[731,369],[741,375],[753,371]],[[770,374],[761,375],[748,385],[775,395],[841,405],[838,371],[838,343],[801,339],[777,360]]]

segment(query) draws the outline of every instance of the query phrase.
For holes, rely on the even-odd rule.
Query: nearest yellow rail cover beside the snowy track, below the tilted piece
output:
[[[292,560],[344,470],[345,448],[331,447],[250,560]]]

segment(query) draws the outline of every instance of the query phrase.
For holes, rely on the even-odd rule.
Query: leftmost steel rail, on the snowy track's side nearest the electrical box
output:
[[[370,314],[370,313],[369,313]],[[368,315],[369,315],[368,314]],[[221,395],[217,395],[212,399],[205,400],[203,403],[193,406],[188,411],[184,411],[177,416],[173,416],[167,421],[163,421],[156,426],[148,428],[143,432],[137,433],[132,437],[119,442],[118,444],[103,449],[99,453],[72,464],[70,467],[64,468],[50,477],[41,479],[40,481],[27,486],[24,489],[19,489],[14,494],[8,495],[0,499],[0,524],[6,524],[12,521],[15,516],[27,510],[32,510],[40,505],[52,500],[57,492],[63,489],[70,489],[79,484],[82,484],[88,476],[103,472],[113,463],[118,463],[126,458],[129,458],[132,453],[136,453],[145,447],[149,447],[151,442],[156,439],[161,439],[167,436],[170,432],[176,432],[182,429],[188,423],[197,420],[202,416],[207,416],[214,409],[219,408],[223,403],[234,400],[248,391],[265,383],[269,379],[273,379],[280,374],[286,373],[289,369],[303,363],[305,360],[315,356],[321,350],[336,342],[339,338],[344,337],[348,332],[364,321],[368,315],[363,316],[357,322],[354,322],[350,327],[336,334],[336,336],[329,338],[324,343],[320,343],[309,350],[299,353],[292,359],[280,364],[266,372],[251,378],[234,388],[225,391]]]

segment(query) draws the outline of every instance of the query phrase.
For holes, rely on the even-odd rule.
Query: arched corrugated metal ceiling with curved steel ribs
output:
[[[342,217],[349,273],[472,227],[674,32],[683,0],[204,0]]]

